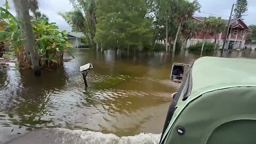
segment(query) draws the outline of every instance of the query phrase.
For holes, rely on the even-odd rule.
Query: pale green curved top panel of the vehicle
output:
[[[191,97],[228,87],[256,86],[256,60],[203,57],[192,69]]]

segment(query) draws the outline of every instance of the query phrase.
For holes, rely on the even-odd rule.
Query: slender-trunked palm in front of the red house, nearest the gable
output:
[[[201,49],[201,56],[203,54],[206,36],[213,33],[213,21],[212,20],[213,20],[212,17],[205,18],[201,23],[201,28],[202,28],[201,31],[204,34],[204,39],[203,39],[203,44],[202,44],[202,49]]]

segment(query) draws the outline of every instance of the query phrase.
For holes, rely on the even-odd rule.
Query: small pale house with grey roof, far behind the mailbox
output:
[[[76,32],[68,33],[69,42],[75,47],[85,46],[85,43],[82,39],[83,37],[84,37],[83,33],[76,33]]]

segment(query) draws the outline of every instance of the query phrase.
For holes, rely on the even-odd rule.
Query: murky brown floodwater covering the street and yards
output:
[[[0,70],[0,143],[157,143],[170,95],[179,88],[170,82],[172,63],[199,58],[188,51],[73,54],[39,78],[14,63]],[[256,52],[224,57],[256,58]],[[79,66],[89,62],[85,90]]]

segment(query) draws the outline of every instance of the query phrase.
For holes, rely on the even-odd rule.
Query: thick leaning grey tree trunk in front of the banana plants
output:
[[[29,48],[32,68],[35,71],[35,75],[40,75],[39,58],[38,58],[38,53],[35,49],[35,36],[33,33],[31,21],[30,21],[28,0],[19,0],[19,4],[21,7],[21,13],[23,16],[25,34],[28,41],[28,48]]]

